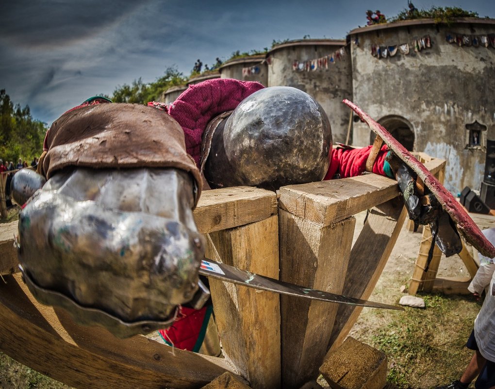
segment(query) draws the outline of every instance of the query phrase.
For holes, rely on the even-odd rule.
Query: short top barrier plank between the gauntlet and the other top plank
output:
[[[239,186],[203,191],[194,219],[199,232],[208,233],[258,222],[276,214],[275,192]]]

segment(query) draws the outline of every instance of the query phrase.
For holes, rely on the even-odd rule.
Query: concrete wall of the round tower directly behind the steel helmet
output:
[[[342,104],[352,100],[351,57],[348,47],[346,56],[328,64],[328,69],[295,71],[293,63],[330,55],[343,48],[346,41],[330,39],[304,39],[275,46],[267,55],[268,86],[292,86],[313,98],[327,113],[334,142],[346,142],[349,109]]]

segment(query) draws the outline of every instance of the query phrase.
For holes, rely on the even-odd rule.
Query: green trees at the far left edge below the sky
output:
[[[28,164],[43,152],[46,123],[31,116],[29,106],[15,105],[0,90],[0,159],[17,162],[19,158]]]

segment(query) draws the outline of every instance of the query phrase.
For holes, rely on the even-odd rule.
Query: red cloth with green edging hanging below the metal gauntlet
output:
[[[158,330],[166,342],[181,350],[193,351],[206,314],[206,306],[201,309],[181,307],[174,324],[166,330]]]

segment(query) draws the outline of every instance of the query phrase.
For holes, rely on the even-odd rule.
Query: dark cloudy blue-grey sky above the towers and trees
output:
[[[417,8],[460,6],[495,17],[493,0],[414,0]],[[0,89],[51,124],[64,111],[169,66],[188,76],[273,40],[343,39],[366,24],[366,9],[394,16],[407,0],[2,1]]]

